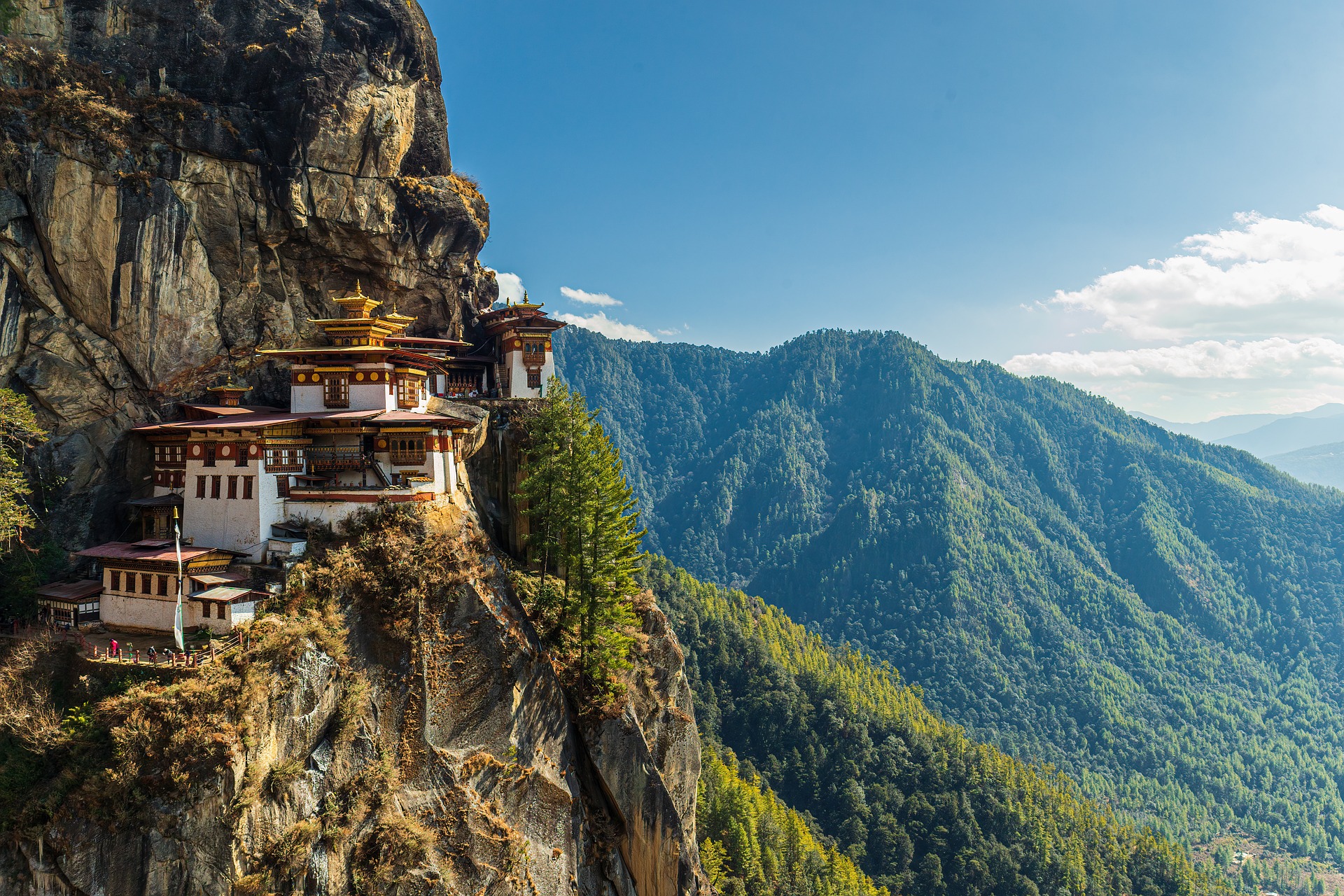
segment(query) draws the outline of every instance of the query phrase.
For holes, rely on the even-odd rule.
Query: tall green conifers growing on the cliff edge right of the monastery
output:
[[[527,420],[519,493],[542,571],[532,611],[552,646],[577,652],[593,703],[606,704],[617,695],[617,673],[630,665],[642,532],[620,455],[595,418],[582,395],[552,379]]]

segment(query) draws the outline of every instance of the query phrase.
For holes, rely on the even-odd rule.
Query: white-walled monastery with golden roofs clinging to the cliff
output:
[[[138,537],[78,552],[98,578],[39,590],[48,619],[171,631],[180,520],[183,626],[228,631],[262,596],[250,567],[300,555],[308,524],[453,496],[470,423],[430,411],[431,395],[540,398],[555,372],[551,334],[564,324],[526,296],[478,316],[478,345],[407,336],[415,318],[375,314],[380,302],[358,285],[335,302],[340,317],[310,321],[325,344],[258,352],[288,365],[288,408],[245,404],[250,387],[230,377],[208,390],[214,403],[132,431],[153,455],[153,493],[128,502]]]

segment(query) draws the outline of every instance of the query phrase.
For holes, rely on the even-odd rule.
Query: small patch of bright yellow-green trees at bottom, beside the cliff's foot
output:
[[[723,896],[886,896],[759,779],[743,779],[732,751],[703,751],[696,825],[700,864]]]

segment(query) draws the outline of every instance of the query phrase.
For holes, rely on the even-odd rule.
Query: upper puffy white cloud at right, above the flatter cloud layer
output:
[[[1236,223],[1187,238],[1184,254],[1059,290],[1047,305],[1095,314],[1103,330],[1137,340],[1344,336],[1344,210]]]

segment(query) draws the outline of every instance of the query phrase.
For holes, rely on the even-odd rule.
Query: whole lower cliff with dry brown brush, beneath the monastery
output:
[[[624,712],[594,719],[470,513],[388,512],[317,549],[247,652],[124,693],[125,668],[87,664],[67,682],[95,705],[85,727],[0,720],[0,895],[711,892],[700,742],[652,602]],[[35,767],[50,779],[15,806]]]

